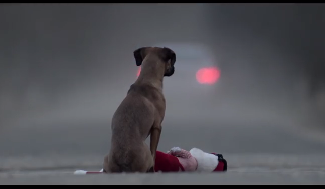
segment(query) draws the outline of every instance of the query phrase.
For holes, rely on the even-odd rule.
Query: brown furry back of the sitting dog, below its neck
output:
[[[163,97],[163,96],[162,96]],[[110,172],[145,172],[153,164],[145,140],[156,114],[152,101],[159,97],[154,87],[133,84],[112,118],[112,140],[109,155]],[[146,126],[144,126],[146,125]],[[152,159],[152,162],[143,160]]]

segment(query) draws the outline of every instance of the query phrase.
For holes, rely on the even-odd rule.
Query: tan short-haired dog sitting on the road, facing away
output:
[[[104,172],[154,172],[166,109],[162,80],[174,74],[176,55],[165,47],[143,47],[134,51],[134,58],[141,73],[113,115]],[[149,135],[150,149],[145,143]]]

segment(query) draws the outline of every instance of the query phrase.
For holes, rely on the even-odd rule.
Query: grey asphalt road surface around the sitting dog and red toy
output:
[[[109,119],[25,124],[0,134],[1,184],[325,184],[325,143],[268,121],[167,118],[158,150],[198,147],[222,153],[221,174],[72,175],[99,170]]]

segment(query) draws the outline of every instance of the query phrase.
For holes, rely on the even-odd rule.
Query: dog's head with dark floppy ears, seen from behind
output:
[[[137,66],[141,66],[143,59],[148,54],[155,54],[165,64],[164,76],[171,76],[175,72],[174,64],[176,62],[176,54],[170,48],[164,47],[142,47],[133,52],[135,63]]]

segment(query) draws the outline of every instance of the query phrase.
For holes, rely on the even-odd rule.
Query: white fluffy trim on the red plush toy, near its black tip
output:
[[[212,172],[219,164],[216,155],[205,153],[198,148],[192,148],[190,153],[198,162],[198,167],[196,169],[198,172]]]

